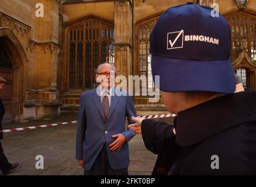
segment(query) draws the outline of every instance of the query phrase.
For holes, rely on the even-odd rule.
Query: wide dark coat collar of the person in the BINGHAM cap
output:
[[[241,123],[256,121],[256,91],[221,96],[178,113],[179,146],[191,146]]]

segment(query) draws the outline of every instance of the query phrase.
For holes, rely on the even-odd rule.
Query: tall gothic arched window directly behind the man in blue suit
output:
[[[68,29],[69,88],[96,86],[94,70],[101,63],[115,63],[114,26],[89,18]]]

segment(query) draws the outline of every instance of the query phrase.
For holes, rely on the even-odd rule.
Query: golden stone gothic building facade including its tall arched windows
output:
[[[36,4],[43,4],[37,17]],[[82,91],[96,86],[98,64],[115,64],[117,75],[146,75],[149,36],[159,16],[183,0],[1,0],[0,75],[8,80],[0,96],[20,103],[21,119],[47,118],[78,109]],[[234,72],[256,88],[256,1],[195,0],[219,5],[232,33]],[[220,28],[221,29],[221,28]],[[139,110],[161,110],[161,98],[134,96]]]

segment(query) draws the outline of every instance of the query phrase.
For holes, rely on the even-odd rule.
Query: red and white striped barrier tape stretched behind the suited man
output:
[[[162,118],[162,117],[174,117],[174,116],[176,116],[176,115],[168,113],[167,115],[147,115],[147,116],[139,116],[139,117],[143,117],[145,119],[150,119],[150,118]],[[0,134],[1,133],[11,133],[13,131],[42,129],[42,128],[46,128],[46,127],[59,126],[61,124],[74,124],[74,123],[77,123],[77,121],[53,123],[53,124],[44,124],[44,125],[39,125],[39,126],[21,127],[21,128],[15,128],[15,129],[6,129],[6,130],[1,130]]]

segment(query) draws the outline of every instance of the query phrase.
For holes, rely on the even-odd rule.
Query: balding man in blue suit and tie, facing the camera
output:
[[[131,117],[137,115],[132,97],[120,96],[121,91],[110,81],[110,72],[116,72],[113,65],[99,65],[96,79],[101,76],[101,84],[80,98],[76,159],[85,175],[128,174],[128,142],[135,134],[125,130],[125,120],[127,117],[129,124],[134,123]]]

